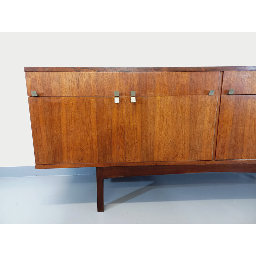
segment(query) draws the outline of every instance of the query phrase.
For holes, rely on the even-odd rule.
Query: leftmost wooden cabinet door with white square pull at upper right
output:
[[[125,161],[124,97],[28,97],[36,164]]]

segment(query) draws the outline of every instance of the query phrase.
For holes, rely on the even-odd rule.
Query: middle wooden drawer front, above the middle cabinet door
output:
[[[220,72],[142,72],[125,73],[125,95],[136,96],[218,94]]]

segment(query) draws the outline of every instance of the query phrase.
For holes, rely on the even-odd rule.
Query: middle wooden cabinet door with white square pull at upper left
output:
[[[217,99],[125,97],[126,161],[212,160]]]

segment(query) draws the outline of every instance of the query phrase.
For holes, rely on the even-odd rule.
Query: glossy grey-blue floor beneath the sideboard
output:
[[[256,223],[256,173],[0,178],[0,223]]]

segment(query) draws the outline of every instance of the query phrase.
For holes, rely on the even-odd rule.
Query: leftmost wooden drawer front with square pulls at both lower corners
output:
[[[124,73],[25,72],[28,96],[124,96]]]

